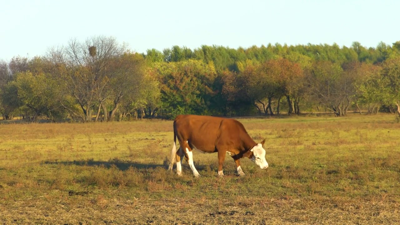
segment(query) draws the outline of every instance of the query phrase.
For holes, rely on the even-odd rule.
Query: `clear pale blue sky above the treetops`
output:
[[[115,37],[132,50],[400,40],[399,0],[1,0],[0,59],[42,55],[70,38]]]

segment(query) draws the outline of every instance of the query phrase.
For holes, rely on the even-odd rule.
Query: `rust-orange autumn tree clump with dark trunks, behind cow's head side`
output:
[[[286,98],[288,113],[300,113],[304,83],[300,64],[279,58],[264,63],[246,60],[237,67],[239,72],[228,73],[225,79],[224,91],[230,99],[242,96],[242,100],[252,102],[259,114],[274,115],[275,109],[280,113],[281,99]]]

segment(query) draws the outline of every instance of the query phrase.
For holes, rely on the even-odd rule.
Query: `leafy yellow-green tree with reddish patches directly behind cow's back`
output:
[[[173,118],[177,114],[207,114],[208,97],[216,71],[213,64],[199,60],[154,64],[152,72],[161,85],[162,114]]]

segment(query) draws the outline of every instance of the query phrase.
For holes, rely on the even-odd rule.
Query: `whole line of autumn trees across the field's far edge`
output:
[[[0,113],[29,121],[173,119],[386,111],[400,116],[400,42],[132,52],[115,38],[71,39],[0,60]]]

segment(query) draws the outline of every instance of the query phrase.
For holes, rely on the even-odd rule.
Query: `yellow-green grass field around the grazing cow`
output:
[[[194,152],[167,171],[172,121],[0,124],[2,224],[399,224],[394,115],[240,119],[269,164]]]

